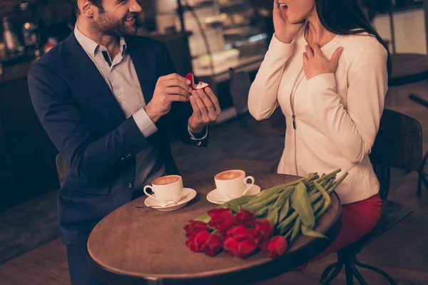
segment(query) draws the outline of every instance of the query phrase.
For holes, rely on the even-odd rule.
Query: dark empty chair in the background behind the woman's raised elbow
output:
[[[248,93],[250,93],[251,78],[246,71],[235,72],[229,69],[229,91],[233,105],[238,115],[238,122],[246,132],[261,137],[268,135],[285,136],[285,117],[280,108],[275,110],[266,120],[255,120],[248,113]]]

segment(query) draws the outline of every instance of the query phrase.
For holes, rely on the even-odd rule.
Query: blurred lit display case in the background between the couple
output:
[[[158,0],[156,13],[158,31],[184,27],[192,33],[195,76],[221,76],[263,59],[266,33],[248,0]]]

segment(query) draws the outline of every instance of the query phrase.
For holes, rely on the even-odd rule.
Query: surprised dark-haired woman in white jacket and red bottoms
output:
[[[325,257],[364,237],[381,213],[368,155],[384,109],[389,53],[357,0],[275,0],[273,21],[248,107],[256,120],[278,106],[285,115],[278,173],[349,172],[337,187],[342,230]]]

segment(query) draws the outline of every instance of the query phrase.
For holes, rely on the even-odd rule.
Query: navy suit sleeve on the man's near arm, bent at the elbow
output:
[[[94,138],[68,86],[48,66],[32,66],[28,83],[34,110],[68,162],[71,176],[94,182],[150,146],[132,116],[111,133]]]

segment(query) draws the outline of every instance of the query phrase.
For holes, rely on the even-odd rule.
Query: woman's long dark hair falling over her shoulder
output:
[[[374,30],[357,0],[315,0],[322,26],[337,35],[367,32],[375,36],[388,52],[388,75],[391,75],[391,55],[387,44]]]

